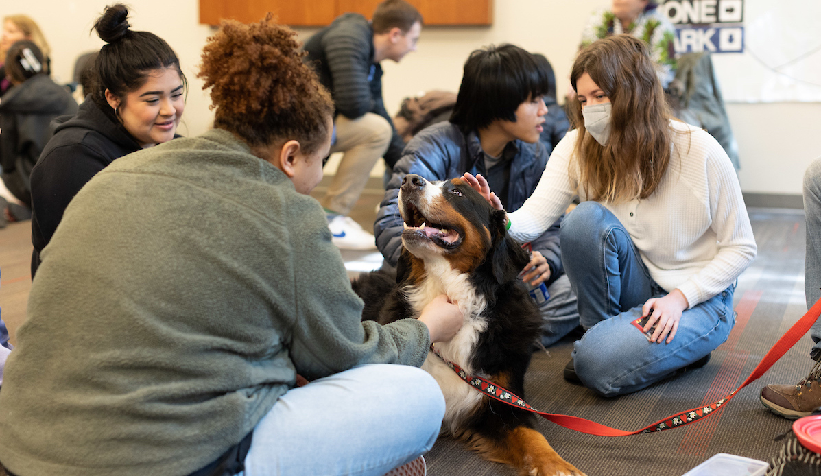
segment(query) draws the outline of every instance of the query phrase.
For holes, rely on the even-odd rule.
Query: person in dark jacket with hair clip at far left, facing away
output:
[[[48,76],[45,56],[33,41],[11,45],[5,69],[14,87],[0,100],[0,177],[20,204],[8,205],[0,226],[6,220],[31,217],[31,169],[51,137],[49,124],[57,116],[77,112],[71,94]]]

